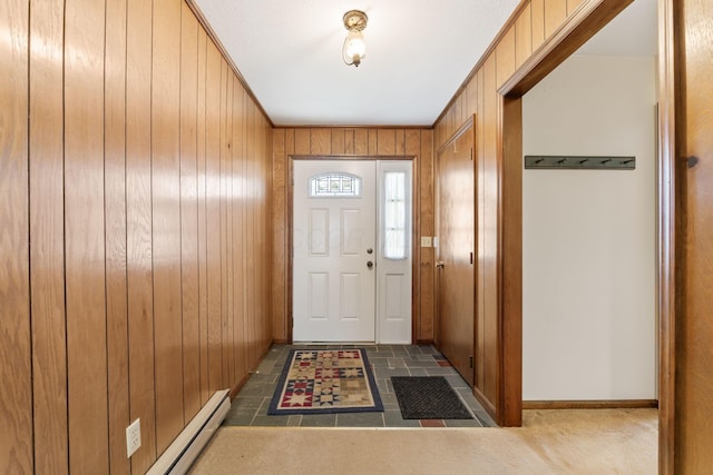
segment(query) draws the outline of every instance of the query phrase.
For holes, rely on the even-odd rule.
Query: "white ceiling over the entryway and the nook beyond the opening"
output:
[[[195,2],[274,125],[431,126],[519,0]],[[653,4],[655,26],[655,3],[636,0],[628,10],[643,12],[612,34],[645,43],[652,27],[628,23],[647,23]],[[341,53],[352,9],[369,16],[359,68]],[[602,41],[579,52],[622,53],[621,38]]]

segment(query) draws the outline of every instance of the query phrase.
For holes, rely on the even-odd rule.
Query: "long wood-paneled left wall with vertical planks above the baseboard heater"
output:
[[[10,0],[0,66],[0,472],[144,473],[272,340],[271,125],[180,0]]]

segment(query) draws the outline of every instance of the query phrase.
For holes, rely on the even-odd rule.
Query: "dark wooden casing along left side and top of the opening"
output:
[[[634,6],[645,2],[638,1]],[[499,319],[498,372],[500,380],[495,406],[500,425],[519,426],[522,409],[522,96],[543,80],[582,44],[592,39],[628,7],[611,8],[583,3],[579,16],[572,16],[537,52],[537,61],[526,62],[498,88],[501,133],[501,174],[498,212]],[[654,9],[655,10],[655,9]],[[617,47],[621,46],[617,44]],[[653,109],[653,108],[652,108]],[[653,116],[653,110],[649,109]],[[660,184],[661,186],[661,184]]]

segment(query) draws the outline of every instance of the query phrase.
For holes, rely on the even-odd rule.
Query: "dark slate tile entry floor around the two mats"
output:
[[[237,394],[224,425],[275,427],[495,427],[492,418],[443,356],[430,345],[330,345],[367,348],[383,413],[341,413],[270,416],[267,406],[293,345],[273,345],[255,373]],[[393,393],[391,376],[445,376],[472,413],[472,419],[403,419]]]

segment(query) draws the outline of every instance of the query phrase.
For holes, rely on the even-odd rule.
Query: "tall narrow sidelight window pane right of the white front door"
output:
[[[387,259],[407,258],[406,172],[387,171],[383,176],[384,249]]]

